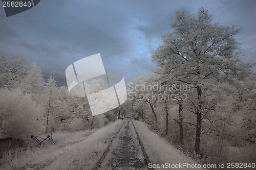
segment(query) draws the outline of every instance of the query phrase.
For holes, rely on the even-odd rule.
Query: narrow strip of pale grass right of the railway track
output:
[[[173,147],[159,137],[157,134],[148,130],[146,124],[138,121],[133,121],[135,128],[140,136],[141,142],[144,146],[145,152],[153,164],[199,164],[195,160],[187,157],[183,152]],[[175,168],[172,168],[175,169]],[[177,168],[181,169],[181,168]],[[183,168],[183,169],[195,169],[195,168]],[[200,168],[203,169],[203,168]]]

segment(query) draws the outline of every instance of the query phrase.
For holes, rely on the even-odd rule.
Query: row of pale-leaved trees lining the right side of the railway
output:
[[[184,148],[215,154],[219,163],[223,141],[241,146],[256,140],[256,78],[251,65],[239,59],[234,36],[240,29],[212,23],[203,8],[197,16],[176,12],[170,28],[173,32],[162,35],[163,44],[152,55],[158,68],[152,75],[134,79],[129,95],[143,120],[146,109],[152,113],[147,123],[154,124],[155,130],[175,137],[177,124]],[[171,132],[169,123],[173,123]],[[170,140],[178,143],[176,138]],[[217,147],[219,140],[222,144]]]

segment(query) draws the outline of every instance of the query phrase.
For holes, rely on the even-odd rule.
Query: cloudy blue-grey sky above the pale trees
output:
[[[151,55],[170,30],[174,12],[196,15],[204,7],[219,25],[238,25],[236,37],[245,62],[256,62],[256,1],[82,1],[41,2],[6,17],[0,7],[0,55],[35,61],[45,78],[65,85],[66,68],[84,57],[101,54],[107,72],[120,72],[125,82],[146,75],[156,64]],[[256,66],[253,67],[256,71]]]

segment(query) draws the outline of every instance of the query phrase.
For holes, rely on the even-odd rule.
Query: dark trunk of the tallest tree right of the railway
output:
[[[199,154],[200,150],[200,138],[201,138],[201,96],[202,96],[202,89],[201,87],[198,87],[197,89],[197,96],[198,96],[198,106],[196,108],[196,114],[197,114],[197,127],[196,127],[196,141],[195,141],[195,152]]]

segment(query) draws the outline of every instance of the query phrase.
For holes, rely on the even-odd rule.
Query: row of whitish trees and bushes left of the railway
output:
[[[0,138],[26,141],[32,134],[100,128],[120,114],[121,108],[92,116],[86,96],[70,95],[52,76],[45,81],[36,63],[24,57],[0,60]]]

